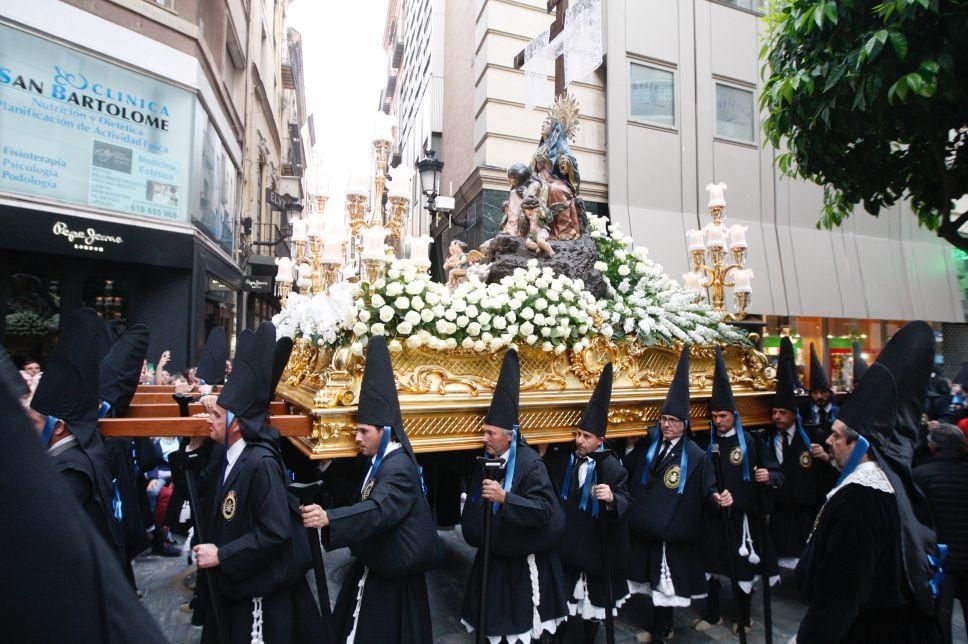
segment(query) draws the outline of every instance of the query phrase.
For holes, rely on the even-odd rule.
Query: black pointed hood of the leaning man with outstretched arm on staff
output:
[[[371,337],[366,346],[366,366],[363,369],[363,381],[360,383],[356,422],[392,428],[397,442],[416,462],[416,455],[403,427],[403,414],[400,412],[390,351],[387,349],[386,338],[382,335]]]

